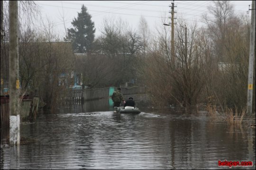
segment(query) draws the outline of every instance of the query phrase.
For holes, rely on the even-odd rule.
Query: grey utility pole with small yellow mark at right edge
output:
[[[253,69],[255,57],[255,0],[252,0],[251,14],[251,33],[250,33],[250,51],[249,51],[249,67],[248,67],[248,90],[247,90],[247,114],[252,114],[253,102]]]

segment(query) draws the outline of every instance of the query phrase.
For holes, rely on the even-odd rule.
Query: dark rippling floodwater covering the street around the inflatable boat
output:
[[[1,136],[0,168],[229,169],[218,166],[227,160],[253,161],[235,168],[255,169],[255,128],[230,127],[203,112],[140,107],[140,114],[118,114],[102,103],[66,105],[22,123],[21,136],[33,142],[19,147]]]

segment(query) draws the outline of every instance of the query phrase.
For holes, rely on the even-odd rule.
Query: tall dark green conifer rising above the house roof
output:
[[[86,53],[91,51],[95,28],[87,8],[82,5],[81,9],[77,18],[74,18],[71,23],[74,28],[67,29],[68,34],[65,40],[73,42],[74,52]]]

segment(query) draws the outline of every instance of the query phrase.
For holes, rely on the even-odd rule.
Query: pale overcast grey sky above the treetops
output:
[[[231,0],[235,6],[236,13],[242,13],[250,17],[251,11],[247,14],[248,5],[251,0]],[[162,17],[166,17],[167,23],[171,20],[168,11],[171,0],[40,0],[36,1],[41,9],[42,19],[50,18],[55,23],[56,32],[64,36],[64,22],[66,28],[71,28],[71,22],[81,12],[84,4],[91,14],[91,20],[96,27],[96,35],[100,34],[103,20],[108,17],[122,18],[133,29],[138,28],[140,16],[144,16],[150,29],[155,25],[162,25]],[[197,21],[201,25],[201,16],[207,12],[207,7],[212,5],[211,0],[175,0],[176,17],[192,23]],[[63,21],[64,18],[64,21]]]

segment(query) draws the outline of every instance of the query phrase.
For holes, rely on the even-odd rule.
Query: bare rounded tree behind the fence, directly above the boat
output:
[[[97,43],[101,48],[97,51],[108,58],[108,61],[101,59],[109,64],[108,73],[112,78],[111,83],[106,81],[107,84],[119,86],[136,79],[137,56],[143,46],[136,31],[128,29],[127,23],[122,20],[106,19]]]

